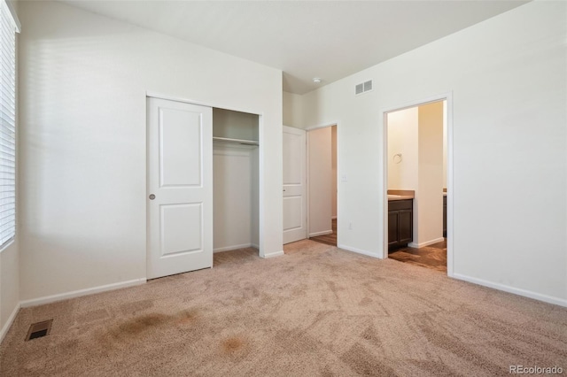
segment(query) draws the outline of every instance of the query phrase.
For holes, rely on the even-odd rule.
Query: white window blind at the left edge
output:
[[[0,0],[0,245],[16,233],[16,21]]]

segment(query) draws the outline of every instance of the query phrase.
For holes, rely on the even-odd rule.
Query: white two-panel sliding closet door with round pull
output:
[[[148,279],[213,266],[213,112],[148,98]]]

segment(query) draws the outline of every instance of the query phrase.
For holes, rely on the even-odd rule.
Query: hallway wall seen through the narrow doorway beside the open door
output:
[[[332,233],[331,127],[307,132],[309,236]]]

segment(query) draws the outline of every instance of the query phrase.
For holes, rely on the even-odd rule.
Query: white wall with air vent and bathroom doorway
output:
[[[567,304],[566,6],[524,4],[304,96],[307,127],[340,119],[344,247],[384,255],[383,111],[450,92],[454,276]]]

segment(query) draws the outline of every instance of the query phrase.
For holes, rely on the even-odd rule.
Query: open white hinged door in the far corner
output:
[[[283,243],[307,238],[306,134],[283,126]]]

